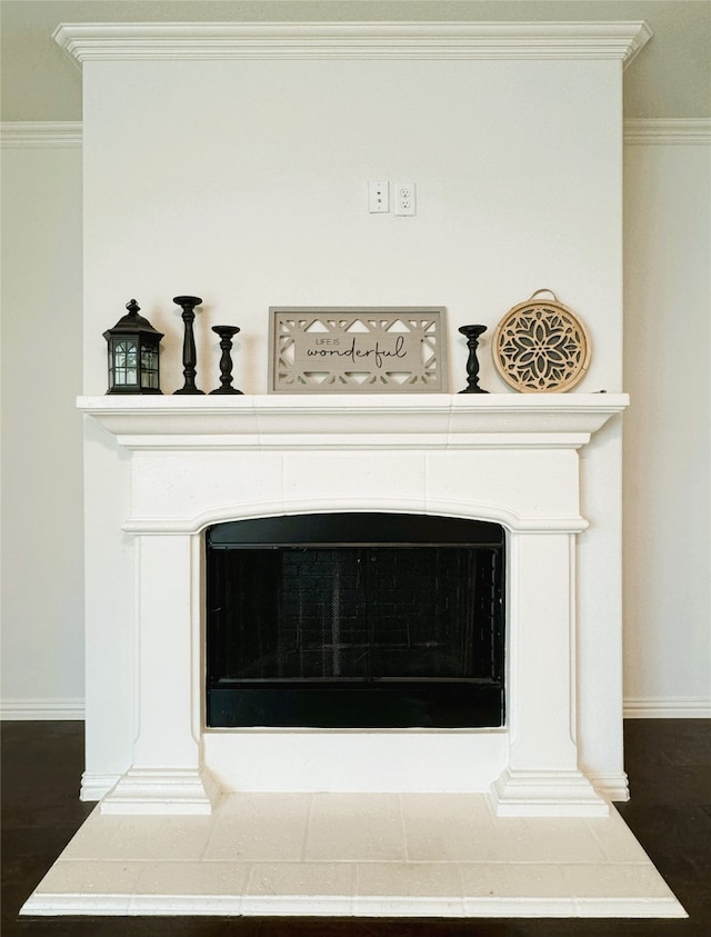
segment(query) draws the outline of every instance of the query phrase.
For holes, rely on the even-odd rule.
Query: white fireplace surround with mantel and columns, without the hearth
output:
[[[607,814],[605,798],[627,795],[623,775],[595,789],[577,745],[579,450],[627,403],[619,393],[80,398],[130,451],[136,740],[129,770],[98,791],[101,810],[209,813],[223,789],[489,791],[500,816]],[[204,528],[378,510],[505,528],[505,727],[206,730]],[[96,796],[96,779],[87,787]]]

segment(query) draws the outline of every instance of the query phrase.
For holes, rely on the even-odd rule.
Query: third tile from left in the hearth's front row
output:
[[[242,913],[350,915],[354,885],[351,863],[257,863]]]

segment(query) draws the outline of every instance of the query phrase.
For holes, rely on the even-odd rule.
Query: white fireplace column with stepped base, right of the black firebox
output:
[[[578,767],[574,548],[573,532],[510,538],[509,764],[491,787],[501,817],[609,813]]]

